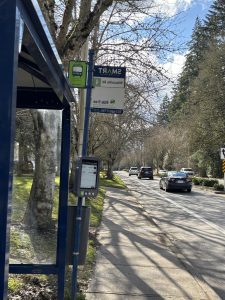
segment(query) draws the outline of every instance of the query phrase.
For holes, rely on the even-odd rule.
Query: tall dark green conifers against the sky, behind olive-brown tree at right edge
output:
[[[189,51],[186,55],[184,69],[174,91],[174,96],[170,105],[170,119],[176,119],[187,113],[185,104],[189,100],[191,85],[193,80],[198,77],[200,64],[203,63],[206,53],[214,44],[224,43],[225,38],[225,3],[216,0],[212,4],[206,20],[202,22],[197,18],[193,29]]]

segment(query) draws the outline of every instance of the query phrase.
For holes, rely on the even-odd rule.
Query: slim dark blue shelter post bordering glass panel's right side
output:
[[[64,299],[66,268],[67,208],[70,164],[70,106],[62,114],[59,219],[56,265],[58,267],[58,300]]]

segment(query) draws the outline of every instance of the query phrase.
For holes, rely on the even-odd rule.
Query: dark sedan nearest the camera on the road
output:
[[[167,176],[160,178],[159,187],[166,192],[169,190],[186,190],[190,193],[192,180],[184,172],[169,171]]]

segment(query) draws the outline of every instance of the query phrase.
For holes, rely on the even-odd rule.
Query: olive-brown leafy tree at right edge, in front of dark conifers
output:
[[[219,149],[225,143],[225,45],[212,44],[193,83],[189,110],[191,143],[204,153],[214,175],[220,175]],[[216,163],[215,163],[216,162]]]

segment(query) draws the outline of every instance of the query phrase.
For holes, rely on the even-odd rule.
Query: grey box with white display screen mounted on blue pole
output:
[[[99,159],[79,157],[76,162],[74,193],[78,197],[96,197],[99,186]]]

